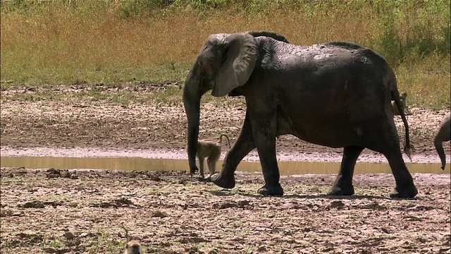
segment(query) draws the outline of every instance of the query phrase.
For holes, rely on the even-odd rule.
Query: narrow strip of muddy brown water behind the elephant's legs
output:
[[[124,169],[124,170],[176,170],[187,171],[187,159],[153,159],[142,157],[1,157],[1,167],[26,169]],[[221,169],[222,161],[216,168]],[[280,174],[336,174],[339,162],[278,162]],[[407,163],[411,173],[450,174],[450,164],[445,170],[438,163]],[[238,171],[261,172],[259,162],[241,162]],[[388,163],[359,162],[355,174],[390,173]]]

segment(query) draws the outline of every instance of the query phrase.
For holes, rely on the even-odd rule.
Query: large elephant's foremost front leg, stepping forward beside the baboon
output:
[[[235,170],[242,159],[255,148],[254,136],[252,133],[252,126],[249,121],[249,114],[246,111],[245,123],[243,123],[240,135],[235,142],[235,145],[230,149],[223,162],[221,172],[211,176],[217,186],[222,188],[235,187]]]

